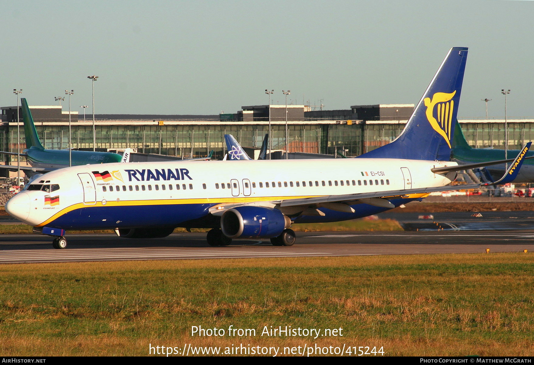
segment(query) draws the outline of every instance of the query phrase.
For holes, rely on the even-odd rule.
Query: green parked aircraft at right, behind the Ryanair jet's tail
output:
[[[508,150],[507,157],[516,156],[519,150]],[[530,157],[534,157],[534,152],[529,151],[527,154],[527,161],[524,162],[521,167],[520,173],[517,175],[513,182],[516,183],[531,183],[534,182],[534,160]],[[458,162],[459,164],[474,164],[474,163],[487,163],[488,161],[502,160],[500,164],[491,165],[481,169],[481,173],[486,180],[495,181],[499,179],[506,170],[504,159],[505,150],[490,149],[490,148],[472,148],[466,141],[464,133],[460,127],[458,121],[456,121],[456,128],[454,128],[454,138],[452,141],[451,160]]]

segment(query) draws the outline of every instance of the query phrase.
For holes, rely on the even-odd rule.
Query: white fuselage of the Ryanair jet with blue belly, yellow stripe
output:
[[[352,158],[73,166],[42,175],[42,183],[34,184],[56,186],[30,186],[6,210],[38,227],[178,226],[209,215],[217,205],[444,186],[455,174],[443,176],[430,169],[453,165]]]

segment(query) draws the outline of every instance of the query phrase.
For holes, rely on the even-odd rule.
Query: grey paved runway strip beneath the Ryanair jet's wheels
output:
[[[205,233],[172,234],[163,239],[124,239],[112,234],[72,234],[66,249],[35,234],[0,236],[0,263],[121,261],[248,257],[303,257],[534,252],[534,231],[513,232],[297,232],[291,247],[268,240],[234,240],[210,247]]]

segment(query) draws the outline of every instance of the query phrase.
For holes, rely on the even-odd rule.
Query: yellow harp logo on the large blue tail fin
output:
[[[452,111],[454,110],[454,100],[452,97],[456,94],[456,90],[452,93],[435,93],[430,98],[425,98],[425,107],[427,107],[427,119],[434,128],[434,131],[441,134],[449,147],[451,147],[451,125],[452,125]],[[437,119],[434,118],[434,107],[436,107]]]

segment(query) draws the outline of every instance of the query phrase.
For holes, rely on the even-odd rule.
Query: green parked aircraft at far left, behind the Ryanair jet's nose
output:
[[[22,120],[24,121],[24,135],[26,137],[26,149],[20,156],[25,156],[32,167],[20,166],[28,176],[42,174],[53,171],[58,168],[69,166],[69,150],[51,150],[45,149],[39,140],[32,113],[28,108],[25,98],[21,100]],[[17,152],[0,152],[8,155],[17,155]],[[94,152],[94,151],[70,151],[72,166],[87,164],[105,164],[121,162],[122,156],[112,152]],[[17,166],[0,165],[0,168],[7,168],[16,171]]]

